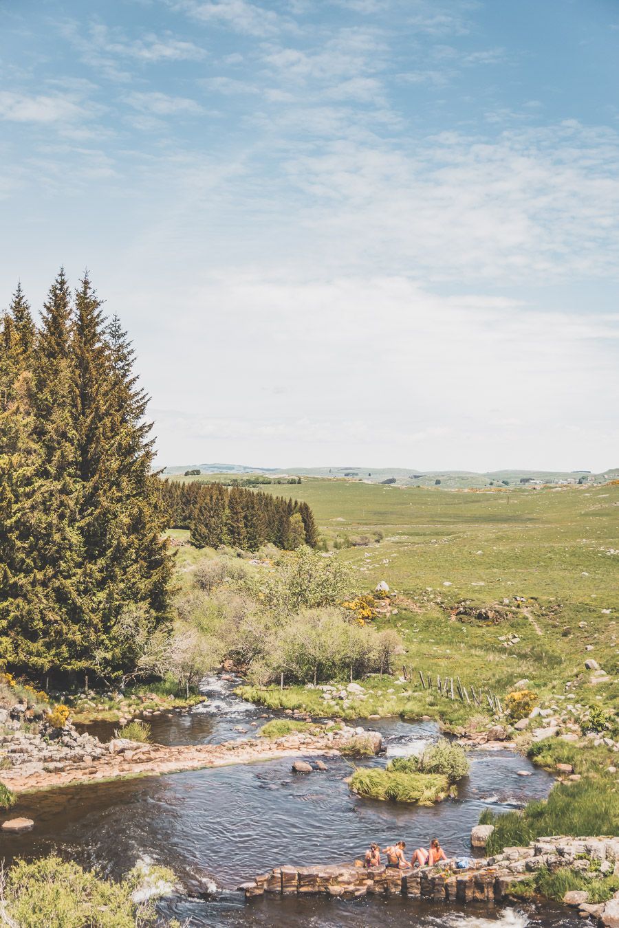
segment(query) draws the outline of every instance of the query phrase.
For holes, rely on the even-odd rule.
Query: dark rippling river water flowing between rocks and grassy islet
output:
[[[246,737],[264,724],[263,713],[231,692],[234,681],[213,677],[203,690],[208,702],[191,712],[154,716],[153,740],[201,744]],[[273,715],[273,714],[269,714]],[[368,725],[368,723],[365,723]],[[110,737],[113,726],[100,726]],[[239,730],[244,729],[244,730]],[[418,753],[439,736],[432,722],[399,719],[375,724],[384,755]],[[91,728],[91,730],[93,730]],[[485,806],[507,809],[547,795],[552,779],[520,755],[475,750],[471,774],[458,799],[431,808],[397,806],[353,796],[344,778],[351,767],[342,758],[327,761],[326,773],[294,775],[290,760],[220,767],[164,777],[65,787],[24,796],[16,815],[35,821],[25,834],[0,834],[0,857],[33,857],[57,851],[95,865],[114,877],[138,859],[152,858],[172,868],[183,890],[161,902],[161,912],[192,926],[380,925],[522,928],[572,926],[564,909],[464,910],[420,904],[391,896],[342,902],[319,896],[264,896],[245,903],[236,886],[280,864],[352,861],[370,841],[382,846],[400,838],[411,851],[438,836],[448,855],[470,855],[469,836]],[[518,776],[526,769],[529,777]]]

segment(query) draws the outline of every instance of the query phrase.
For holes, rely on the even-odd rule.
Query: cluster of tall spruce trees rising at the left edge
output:
[[[0,660],[123,672],[136,625],[171,617],[148,396],[117,316],[64,271],[38,323],[18,287],[0,329]]]

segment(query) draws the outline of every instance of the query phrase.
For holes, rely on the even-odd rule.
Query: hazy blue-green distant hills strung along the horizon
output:
[[[186,470],[200,470],[202,474],[267,474],[268,476],[305,476],[330,479],[359,480],[367,483],[389,481],[398,486],[441,486],[443,489],[463,489],[485,486],[521,486],[539,483],[569,484],[605,483],[619,477],[619,468],[591,473],[588,470],[492,470],[477,473],[472,470],[416,470],[415,468],[350,467],[290,467],[260,468],[245,464],[183,464],[167,467],[165,474],[180,475]]]

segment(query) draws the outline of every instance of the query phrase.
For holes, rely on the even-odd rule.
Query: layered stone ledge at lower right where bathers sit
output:
[[[459,864],[464,861],[458,861]],[[619,873],[619,838],[538,838],[527,846],[507,847],[496,857],[469,859],[467,867],[455,861],[417,870],[392,870],[383,866],[366,870],[355,865],[329,864],[311,867],[277,867],[242,883],[246,898],[280,893],[298,896],[326,895],[342,899],[393,894],[424,901],[485,903],[495,905],[531,895],[530,884],[537,870],[572,869],[586,872]],[[527,886],[527,892],[524,887]],[[619,893],[605,903],[588,902],[587,892],[568,893],[568,906],[579,909],[583,918],[600,928],[619,928]]]

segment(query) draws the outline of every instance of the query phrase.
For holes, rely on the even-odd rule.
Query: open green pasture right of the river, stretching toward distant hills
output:
[[[329,545],[384,533],[337,556],[355,566],[359,592],[385,580],[405,598],[379,620],[403,635],[403,663],[498,693],[527,677],[545,696],[577,690],[584,702],[617,702],[619,485],[454,492],[306,478],[260,489],[307,501]],[[197,554],[181,548],[180,565]],[[510,618],[498,625],[450,614],[462,600],[503,599]],[[509,634],[520,640],[509,645]],[[587,657],[607,682],[591,684]]]

